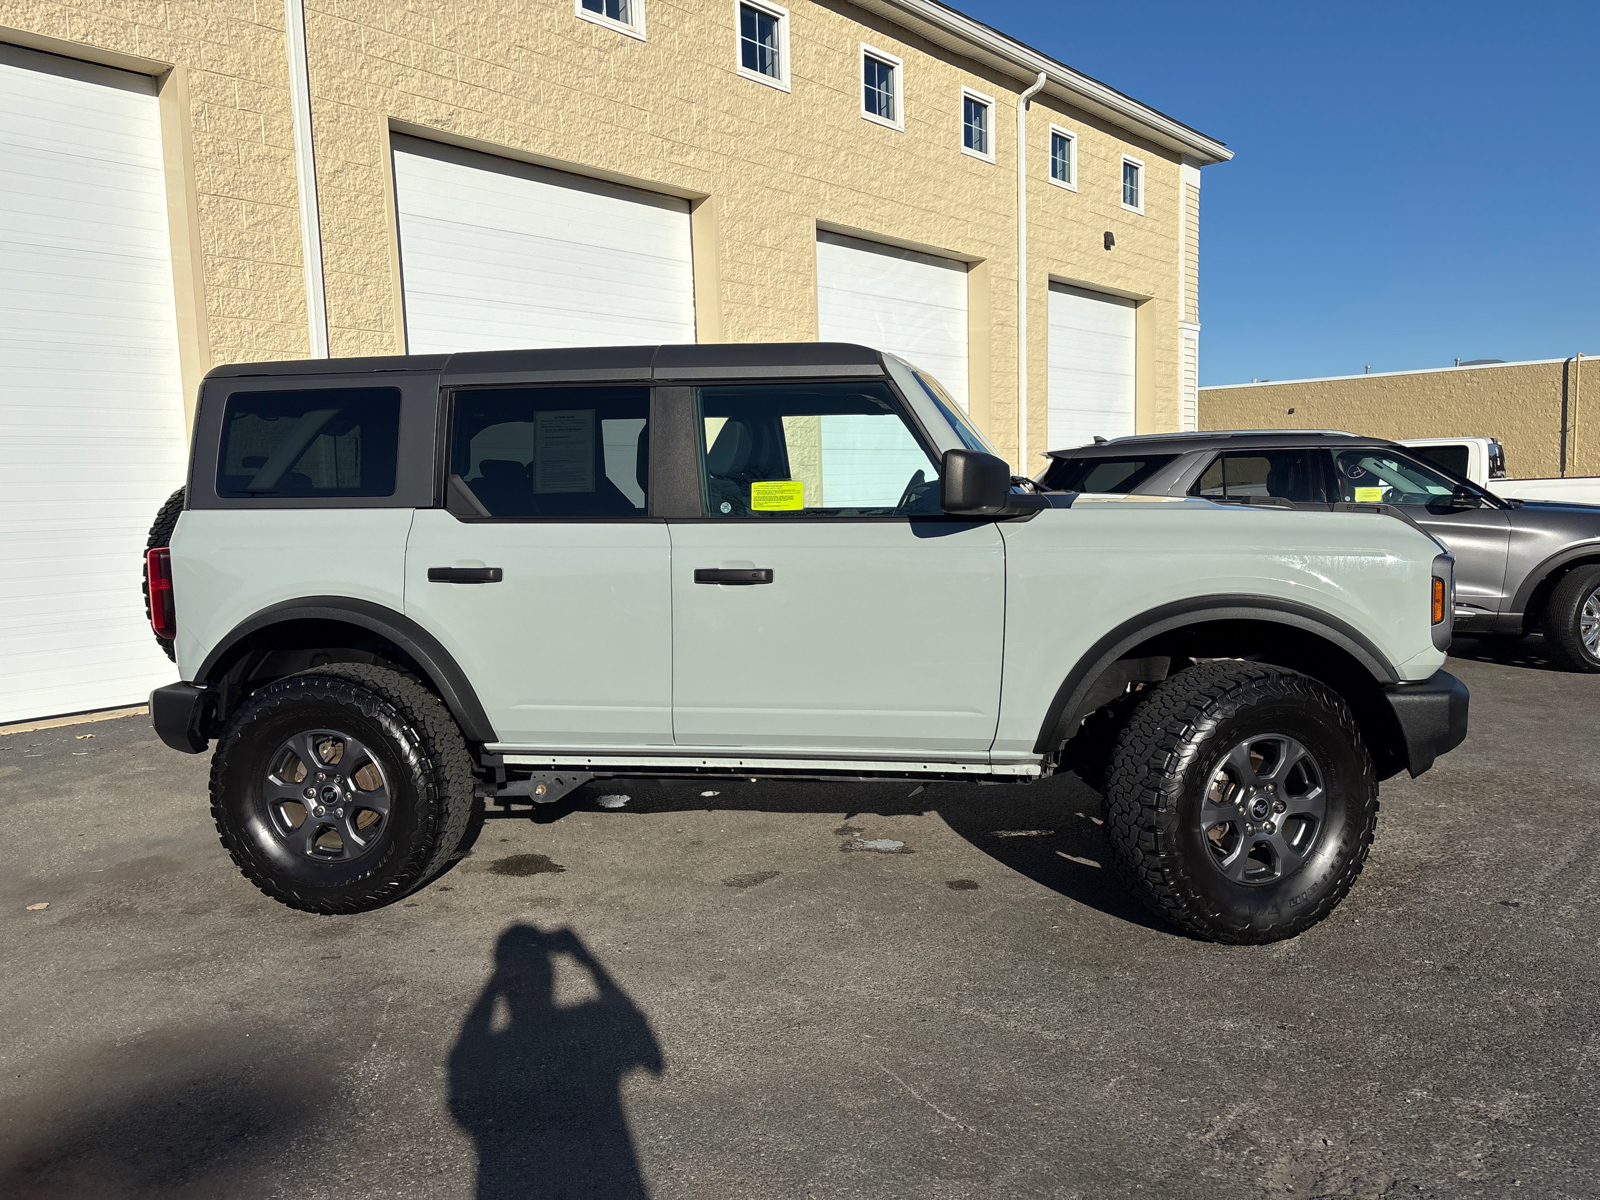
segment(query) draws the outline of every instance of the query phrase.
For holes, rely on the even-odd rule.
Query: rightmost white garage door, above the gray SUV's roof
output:
[[[1122,296],[1050,285],[1050,446],[1133,427],[1133,310]]]

